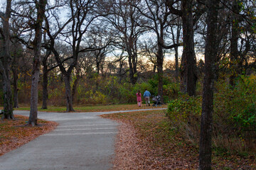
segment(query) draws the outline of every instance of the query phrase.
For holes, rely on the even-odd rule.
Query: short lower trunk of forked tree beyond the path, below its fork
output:
[[[73,109],[73,101],[72,101],[71,86],[70,86],[70,74],[64,75],[64,82],[65,82],[65,98],[66,98],[66,104],[67,104],[66,112],[75,111]]]

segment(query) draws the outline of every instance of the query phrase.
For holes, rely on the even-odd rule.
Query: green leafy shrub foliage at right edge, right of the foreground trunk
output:
[[[216,84],[215,119],[226,130],[242,135],[245,131],[256,130],[256,77],[240,76],[235,87],[225,82]]]

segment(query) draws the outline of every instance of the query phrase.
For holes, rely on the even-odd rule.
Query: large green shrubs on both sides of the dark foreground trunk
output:
[[[235,87],[215,84],[213,147],[232,152],[256,149],[256,77],[240,76]],[[180,96],[171,100],[166,115],[178,132],[198,143],[202,98]]]

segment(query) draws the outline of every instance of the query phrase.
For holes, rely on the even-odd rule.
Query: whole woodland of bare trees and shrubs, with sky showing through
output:
[[[134,103],[148,89],[169,104],[174,126],[196,142],[201,136],[199,169],[210,169],[212,136],[214,147],[220,136],[254,146],[255,0],[6,0],[1,7],[2,119],[30,103],[28,124],[37,125],[38,104],[71,112]]]

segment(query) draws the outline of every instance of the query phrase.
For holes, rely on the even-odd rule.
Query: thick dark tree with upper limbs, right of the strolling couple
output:
[[[196,81],[198,79],[193,26],[201,14],[205,12],[205,8],[200,3],[196,4],[198,5],[196,6],[198,10],[193,11],[193,0],[166,0],[166,5],[169,7],[171,13],[181,16],[182,19],[183,53],[181,57],[181,91],[187,93],[189,96],[196,95]]]

